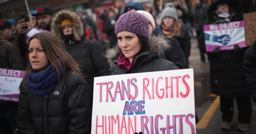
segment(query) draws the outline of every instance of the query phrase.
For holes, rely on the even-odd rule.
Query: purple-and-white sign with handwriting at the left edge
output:
[[[0,68],[0,100],[18,102],[24,74],[25,71]]]

